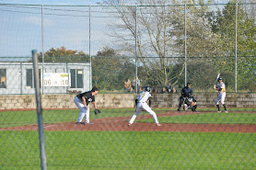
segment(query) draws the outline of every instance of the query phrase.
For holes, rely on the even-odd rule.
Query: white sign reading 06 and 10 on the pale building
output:
[[[44,73],[43,86],[70,86],[69,74],[64,73]]]

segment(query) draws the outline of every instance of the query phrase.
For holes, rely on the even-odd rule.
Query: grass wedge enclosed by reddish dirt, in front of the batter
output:
[[[154,119],[139,119],[140,122],[154,122]],[[160,123],[195,124],[256,124],[256,113],[204,113],[172,117],[159,117]]]

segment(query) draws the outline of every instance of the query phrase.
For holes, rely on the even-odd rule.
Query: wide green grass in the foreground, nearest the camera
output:
[[[0,131],[1,169],[40,169],[38,131]],[[255,133],[45,131],[48,169],[253,169]]]

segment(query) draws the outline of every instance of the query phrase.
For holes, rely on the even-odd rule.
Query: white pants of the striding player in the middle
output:
[[[132,117],[132,119],[130,119],[129,123],[133,124],[134,123],[134,120],[136,119],[136,117],[139,115],[139,113],[141,111],[145,110],[146,112],[148,112],[150,115],[153,116],[153,118],[155,119],[155,122],[156,124],[159,123],[158,120],[157,120],[157,114],[151,109],[148,107],[148,105],[146,103],[138,103],[137,104],[137,108],[136,108],[136,111]]]

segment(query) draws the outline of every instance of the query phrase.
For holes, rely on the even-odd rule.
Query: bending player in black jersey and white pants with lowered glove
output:
[[[98,94],[99,89],[94,86],[91,91],[81,93],[77,96],[75,96],[74,102],[76,104],[76,107],[80,109],[80,115],[77,119],[77,124],[87,124],[89,123],[89,107],[88,104],[91,102],[95,108],[94,112],[95,114],[99,114],[100,111],[97,109],[97,104],[95,102],[95,96]],[[82,120],[86,116],[86,122],[83,123]]]

